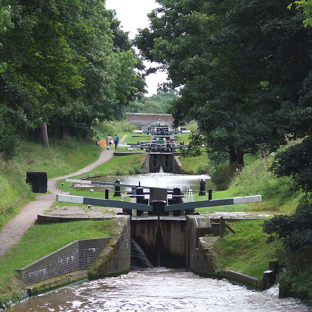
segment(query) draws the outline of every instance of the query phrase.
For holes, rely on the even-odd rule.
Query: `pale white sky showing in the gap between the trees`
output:
[[[120,20],[122,29],[129,32],[133,39],[137,35],[138,28],[149,26],[147,14],[157,7],[154,0],[106,0],[107,9],[115,9],[117,19]],[[151,63],[144,61],[145,66],[150,67]],[[151,97],[157,93],[158,83],[166,81],[167,74],[156,72],[146,77],[148,94]]]

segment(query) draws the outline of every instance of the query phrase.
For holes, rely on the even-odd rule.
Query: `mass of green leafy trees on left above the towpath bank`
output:
[[[120,118],[145,91],[143,67],[104,0],[1,1],[0,153]]]

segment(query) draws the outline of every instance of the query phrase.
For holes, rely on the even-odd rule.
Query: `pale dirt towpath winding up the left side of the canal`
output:
[[[120,142],[125,140],[126,136],[120,139]],[[83,173],[87,173],[94,168],[98,167],[100,164],[108,161],[113,157],[114,151],[103,150],[97,161],[90,164],[89,166],[66,176],[59,176],[55,178],[48,179],[48,191],[51,194],[43,194],[36,197],[36,200],[30,202],[21,211],[20,214],[9,221],[6,226],[2,229],[0,233],[0,256],[3,255],[8,249],[15,245],[20,237],[34,225],[35,220],[37,220],[37,215],[43,211],[49,209],[51,205],[55,202],[56,195],[59,190],[56,188],[56,182],[58,180],[77,176]]]

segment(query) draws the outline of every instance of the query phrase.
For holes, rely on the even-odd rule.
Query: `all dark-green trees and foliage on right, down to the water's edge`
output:
[[[275,216],[264,230],[283,246],[284,294],[312,300],[312,1],[157,2],[136,44],[180,87],[176,126],[197,120],[209,158],[227,161],[232,176],[246,153],[296,143],[271,170],[304,196],[293,215]]]

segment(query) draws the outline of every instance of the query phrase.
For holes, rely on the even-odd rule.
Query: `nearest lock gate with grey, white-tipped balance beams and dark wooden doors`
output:
[[[78,183],[79,180],[67,179]],[[80,180],[81,183],[88,181]],[[96,184],[90,181],[90,184]],[[108,184],[107,182],[102,182]],[[118,186],[126,186],[116,183]],[[110,183],[115,185],[115,183]],[[162,189],[145,186],[132,186],[129,194],[131,202],[96,197],[83,197],[58,194],[60,202],[80,203],[90,206],[117,207],[130,215],[130,233],[148,255],[155,266],[186,268],[197,273],[212,273],[215,268],[205,259],[203,242],[213,241],[214,235],[221,234],[227,225],[219,220],[219,229],[213,227],[213,220],[195,212],[197,208],[261,201],[261,195],[208,199],[194,201],[194,195],[184,195],[179,188]],[[145,192],[147,191],[147,192]],[[135,200],[136,202],[133,202]],[[232,229],[230,229],[232,230]]]

